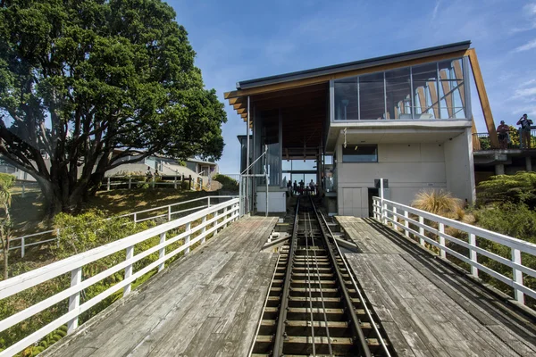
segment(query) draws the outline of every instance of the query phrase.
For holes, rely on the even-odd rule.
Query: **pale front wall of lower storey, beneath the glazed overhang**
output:
[[[374,179],[389,179],[389,199],[410,204],[426,187],[447,188],[443,144],[380,144],[378,162],[342,162],[337,148],[340,215],[368,217],[368,187]]]

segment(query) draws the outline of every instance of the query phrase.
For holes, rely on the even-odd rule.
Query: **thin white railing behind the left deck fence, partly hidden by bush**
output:
[[[176,216],[177,214],[185,213],[185,212],[192,212],[192,211],[204,209],[206,207],[210,207],[211,198],[214,203],[214,200],[219,200],[220,198],[230,199],[234,197],[235,196],[232,196],[232,195],[214,195],[214,196],[200,197],[200,198],[195,198],[193,200],[168,204],[166,206],[160,206],[160,207],[155,207],[155,208],[149,208],[143,211],[127,213],[121,216],[115,216],[115,217],[109,218],[108,220],[113,220],[115,218],[130,218],[134,221],[134,223],[138,223],[138,222],[143,222],[145,220],[156,220],[159,218],[166,218],[168,221],[170,221],[172,220],[173,216]],[[206,200],[205,204],[201,204],[196,207],[187,208],[185,210],[179,210],[179,211],[173,212],[173,208],[180,206],[181,204],[194,203],[194,202],[202,203],[202,201],[205,201],[205,200]],[[167,212],[147,216],[147,213],[150,213],[150,212],[164,212],[164,211],[167,211]],[[57,242],[60,239],[60,235],[61,235],[61,229],[58,228],[58,229],[50,229],[50,230],[45,230],[42,232],[32,233],[32,234],[22,236],[22,237],[13,237],[10,240],[9,250],[13,251],[16,249],[21,249],[21,258],[24,258],[24,255],[26,254],[26,248],[28,248],[29,246],[42,245],[42,244],[49,243],[49,242]],[[18,245],[13,245],[13,243],[15,242],[18,242]],[[0,253],[1,252],[4,252],[4,250],[0,249]]]

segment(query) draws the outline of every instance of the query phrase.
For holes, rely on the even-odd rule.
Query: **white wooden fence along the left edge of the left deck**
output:
[[[155,228],[150,228],[130,237],[125,237],[107,245],[89,250],[88,252],[73,255],[63,261],[54,262],[43,268],[31,270],[17,277],[0,281],[1,300],[18,294],[29,287],[38,286],[50,279],[66,273],[71,273],[71,286],[69,288],[0,321],[0,332],[2,332],[23,320],[30,319],[38,312],[44,311],[56,303],[61,303],[67,299],[69,300],[69,311],[67,313],[60,318],[49,322],[45,327],[38,329],[38,331],[24,337],[14,345],[9,346],[4,351],[0,352],[0,357],[13,356],[15,353],[21,352],[24,348],[38,342],[41,338],[65,324],[67,324],[68,334],[71,334],[78,328],[79,316],[82,312],[88,311],[88,309],[95,306],[96,303],[103,301],[106,297],[113,295],[113,293],[120,289],[123,291],[123,296],[129,295],[131,284],[137,278],[141,278],[143,275],[156,268],[160,272],[164,268],[164,262],[181,252],[188,254],[192,245],[195,245],[197,242],[201,242],[201,244],[205,243],[205,238],[207,236],[213,233],[216,234],[218,229],[227,227],[230,222],[238,220],[238,218],[239,199],[234,198],[227,202],[207,207],[202,211],[189,214],[178,220],[169,221]],[[192,223],[196,220],[201,220],[201,223],[196,227],[192,227]],[[174,237],[166,237],[167,232],[181,227],[185,229],[183,233]],[[192,235],[196,232],[200,233],[197,237],[192,238]],[[152,237],[160,237],[160,242],[146,251],[134,254],[135,245]],[[166,251],[168,245],[172,245],[179,241],[182,241],[183,245],[180,245],[180,247],[172,252]],[[119,262],[113,267],[109,267],[107,270],[104,270],[93,277],[82,280],[82,267],[88,263],[96,262],[105,256],[121,251],[125,251],[125,260],[123,262]],[[139,262],[148,255],[156,252],[159,253],[158,260],[151,262],[146,267],[136,272],[133,271],[132,268],[135,262]],[[121,270],[124,270],[123,280],[90,300],[80,303],[80,293],[82,293],[84,289]]]

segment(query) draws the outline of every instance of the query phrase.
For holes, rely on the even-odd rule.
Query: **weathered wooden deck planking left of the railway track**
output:
[[[247,354],[277,261],[259,250],[276,221],[234,222],[44,355]]]

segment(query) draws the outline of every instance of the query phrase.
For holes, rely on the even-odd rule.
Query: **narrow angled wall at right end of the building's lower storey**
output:
[[[445,168],[447,170],[447,190],[456,197],[473,203],[474,163],[471,129],[445,142]]]

